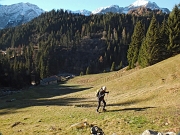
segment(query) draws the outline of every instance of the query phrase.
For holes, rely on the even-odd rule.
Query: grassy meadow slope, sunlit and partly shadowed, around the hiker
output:
[[[180,131],[180,55],[144,69],[75,77],[65,84],[38,86],[0,99],[0,132],[4,135],[88,135],[87,120],[106,135],[139,135],[146,129]],[[107,112],[95,113],[95,91],[101,86]],[[15,99],[13,102],[6,102]]]

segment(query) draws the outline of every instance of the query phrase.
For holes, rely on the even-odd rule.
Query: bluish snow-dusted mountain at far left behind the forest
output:
[[[38,17],[45,12],[30,3],[18,3],[0,6],[0,29],[17,26]]]

